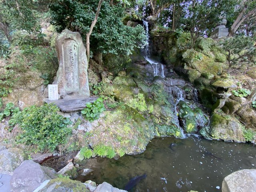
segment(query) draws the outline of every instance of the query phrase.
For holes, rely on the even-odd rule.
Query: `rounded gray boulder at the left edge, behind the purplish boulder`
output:
[[[18,148],[9,148],[0,151],[0,170],[12,172],[22,161],[26,159],[26,154]]]

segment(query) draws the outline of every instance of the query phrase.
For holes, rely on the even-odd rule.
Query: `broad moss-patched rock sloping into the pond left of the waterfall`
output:
[[[137,110],[124,105],[104,112],[88,140],[95,154],[113,158],[143,152],[155,135],[152,123]]]

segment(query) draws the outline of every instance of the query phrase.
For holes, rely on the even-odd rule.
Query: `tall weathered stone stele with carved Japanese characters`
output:
[[[62,98],[90,97],[86,50],[78,32],[63,30],[56,38],[59,69],[56,80]]]

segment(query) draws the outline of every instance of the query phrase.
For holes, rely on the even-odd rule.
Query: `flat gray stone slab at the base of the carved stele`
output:
[[[86,107],[86,103],[94,102],[98,97],[87,98],[64,98],[60,100],[46,100],[46,103],[54,103],[62,112],[72,112],[82,110]]]

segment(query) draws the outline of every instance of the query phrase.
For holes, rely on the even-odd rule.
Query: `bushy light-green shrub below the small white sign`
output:
[[[33,144],[38,151],[53,152],[56,147],[66,142],[66,136],[72,130],[69,118],[58,115],[59,109],[53,104],[30,106],[20,114],[15,114],[9,124],[19,124],[22,133],[17,136],[19,143]]]

